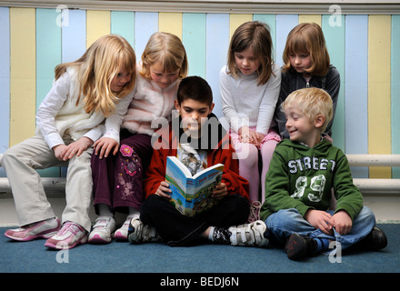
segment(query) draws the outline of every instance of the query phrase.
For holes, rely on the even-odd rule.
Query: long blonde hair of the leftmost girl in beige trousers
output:
[[[55,79],[63,75],[68,66],[75,66],[79,81],[76,105],[84,95],[86,113],[101,110],[109,116],[115,111],[115,103],[135,88],[135,63],[135,51],[124,37],[104,35],[75,62],[57,65]],[[111,82],[121,69],[131,74],[131,80],[121,92],[115,93],[111,90]]]

